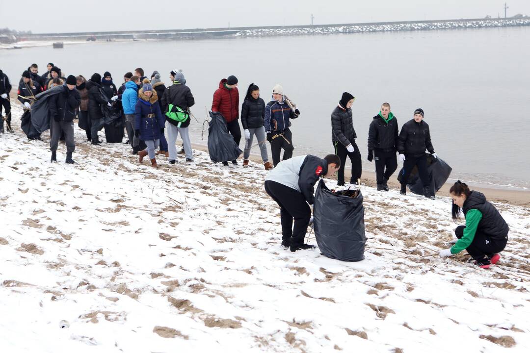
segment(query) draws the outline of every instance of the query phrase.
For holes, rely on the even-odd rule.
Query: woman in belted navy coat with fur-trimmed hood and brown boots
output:
[[[135,106],[135,136],[144,140],[147,148],[138,152],[140,164],[149,155],[151,166],[158,168],[155,149],[160,144],[160,136],[164,133],[164,117],[157,103],[158,95],[149,79],[144,79],[144,86],[138,91],[138,102]]]

